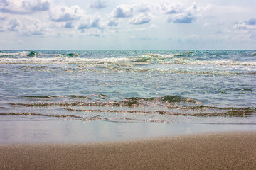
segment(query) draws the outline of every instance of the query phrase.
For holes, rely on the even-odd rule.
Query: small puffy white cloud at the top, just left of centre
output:
[[[114,18],[127,18],[133,15],[133,11],[134,6],[122,4],[114,8],[114,11],[112,11],[112,16]]]

